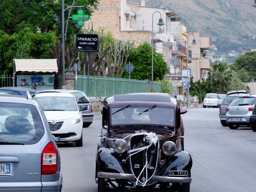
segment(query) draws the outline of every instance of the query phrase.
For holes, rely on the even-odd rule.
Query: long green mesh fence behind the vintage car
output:
[[[172,89],[171,84],[167,84]],[[161,92],[164,83],[154,82],[154,92]],[[147,80],[130,80],[130,93],[151,92],[151,84]],[[77,77],[77,90],[86,93],[88,97],[111,96],[129,93],[129,79],[100,76]]]

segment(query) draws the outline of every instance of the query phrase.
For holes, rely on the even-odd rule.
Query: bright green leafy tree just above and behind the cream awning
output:
[[[0,71],[2,74],[13,73],[13,59],[16,58],[51,58],[50,48],[56,43],[53,32],[34,33],[24,28],[9,36],[0,30]]]

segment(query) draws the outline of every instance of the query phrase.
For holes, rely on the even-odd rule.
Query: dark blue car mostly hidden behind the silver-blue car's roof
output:
[[[26,91],[30,93],[30,95],[36,94],[37,90],[33,88],[25,88],[25,87],[2,87],[0,88],[0,93],[11,94],[11,95],[22,95],[26,96]]]

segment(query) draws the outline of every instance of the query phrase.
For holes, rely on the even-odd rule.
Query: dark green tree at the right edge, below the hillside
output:
[[[238,72],[240,69],[244,68],[248,71],[249,80],[251,78],[256,78],[256,51],[249,51],[239,56],[234,61],[234,64],[231,66],[233,70]]]

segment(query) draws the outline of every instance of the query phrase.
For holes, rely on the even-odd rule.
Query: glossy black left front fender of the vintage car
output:
[[[96,162],[102,170],[112,169],[115,172],[125,173],[121,163],[118,161],[118,154],[111,149],[100,148],[96,155]]]

